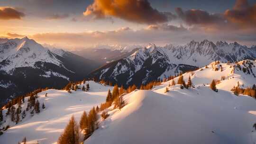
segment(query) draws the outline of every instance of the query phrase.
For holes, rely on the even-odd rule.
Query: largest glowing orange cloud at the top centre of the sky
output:
[[[140,24],[164,23],[175,17],[152,8],[147,0],[94,0],[83,15],[93,19],[116,17]]]

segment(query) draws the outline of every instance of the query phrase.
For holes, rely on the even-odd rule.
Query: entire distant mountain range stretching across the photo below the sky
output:
[[[256,59],[256,46],[204,40],[181,46],[97,45],[71,53],[46,48],[27,37],[0,39],[0,100],[37,88],[62,88],[85,77],[139,86],[212,61],[245,59]]]

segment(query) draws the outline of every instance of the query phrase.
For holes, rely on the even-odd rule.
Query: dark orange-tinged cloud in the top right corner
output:
[[[241,27],[256,27],[256,4],[249,6],[247,0],[237,0],[234,8],[226,10],[224,16]]]

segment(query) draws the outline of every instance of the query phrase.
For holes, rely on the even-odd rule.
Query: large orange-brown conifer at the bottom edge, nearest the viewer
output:
[[[60,135],[57,144],[79,144],[79,126],[74,116],[71,117],[64,132]]]

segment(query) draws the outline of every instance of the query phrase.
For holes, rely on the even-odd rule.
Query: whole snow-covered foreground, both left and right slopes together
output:
[[[110,116],[104,120],[102,111],[98,113],[99,128],[83,144],[254,144],[256,100],[243,94],[237,96],[230,90],[238,82],[240,88],[251,87],[256,83],[255,74],[256,61],[212,62],[183,74],[184,81],[191,77],[194,88],[181,89],[179,84],[170,85],[171,80],[152,90],[132,91],[123,95],[123,108],[107,108]],[[176,83],[178,78],[174,78]],[[212,80],[219,81],[218,92],[209,88]],[[10,116],[4,116],[2,126],[10,128],[0,135],[0,141],[16,144],[26,136],[29,144],[56,144],[72,115],[79,121],[83,110],[88,114],[105,100],[108,89],[113,89],[93,81],[78,85],[87,83],[89,91],[38,93],[37,99],[46,108],[40,108],[41,112],[34,116],[28,111],[17,125],[10,121]],[[21,104],[22,110],[26,106],[27,98]]]

